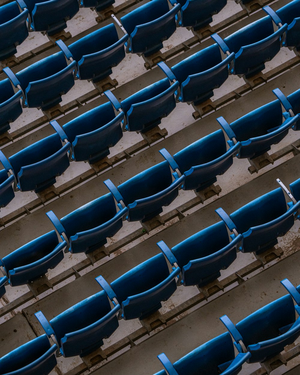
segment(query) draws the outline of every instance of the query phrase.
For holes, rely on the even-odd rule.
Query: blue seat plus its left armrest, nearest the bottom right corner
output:
[[[226,316],[220,318],[233,336],[239,353],[251,353],[248,363],[263,362],[293,344],[300,336],[300,318],[296,320],[293,298],[287,294],[234,325]]]

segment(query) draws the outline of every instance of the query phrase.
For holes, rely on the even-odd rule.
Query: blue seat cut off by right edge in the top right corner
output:
[[[285,47],[300,46],[300,1],[294,0],[276,10],[282,23],[288,24],[287,37],[283,43]]]

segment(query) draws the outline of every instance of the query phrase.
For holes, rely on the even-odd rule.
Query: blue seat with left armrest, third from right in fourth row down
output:
[[[160,154],[168,161],[173,170],[174,177],[184,175],[181,186],[183,190],[205,189],[217,181],[217,175],[225,173],[233,164],[233,156],[240,150],[241,144],[237,142],[226,150],[225,136],[221,129],[193,142],[171,156],[163,148]]]

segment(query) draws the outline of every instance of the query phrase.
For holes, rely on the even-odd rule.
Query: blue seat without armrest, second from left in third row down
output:
[[[9,157],[13,174],[17,177],[21,191],[39,192],[55,183],[70,165],[68,150],[58,133],[49,135]]]

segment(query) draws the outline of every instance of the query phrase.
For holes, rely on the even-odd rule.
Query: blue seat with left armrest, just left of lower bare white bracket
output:
[[[294,225],[294,212],[300,208],[300,200],[287,209],[284,192],[278,187],[252,202],[234,211],[229,216],[222,208],[216,213],[233,232],[231,238],[237,234],[243,235],[243,253],[257,254],[272,248],[278,243],[277,237],[284,236]]]

